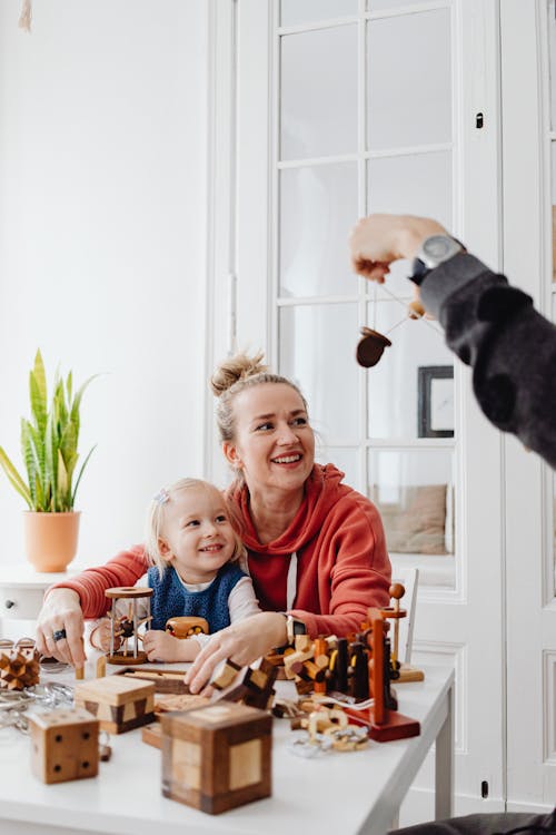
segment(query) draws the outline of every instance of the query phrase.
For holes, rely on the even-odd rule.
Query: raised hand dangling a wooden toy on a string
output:
[[[429,235],[446,235],[436,220],[413,215],[369,215],[357,222],[349,236],[351,268],[384,284],[390,264],[413,258]]]

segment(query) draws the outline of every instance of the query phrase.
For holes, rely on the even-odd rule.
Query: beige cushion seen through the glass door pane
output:
[[[374,501],[383,517],[386,544],[397,553],[447,553],[445,539],[446,484],[408,487],[399,503]]]

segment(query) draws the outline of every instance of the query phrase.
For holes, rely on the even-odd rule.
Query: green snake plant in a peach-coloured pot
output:
[[[0,464],[28,505],[24,513],[27,556],[37,571],[64,571],[77,552],[80,511],[73,509],[83,470],[77,470],[81,397],[89,383],[73,391],[71,371],[57,372],[50,402],[40,351],[29,375],[31,420],[21,419],[23,479],[0,446]]]

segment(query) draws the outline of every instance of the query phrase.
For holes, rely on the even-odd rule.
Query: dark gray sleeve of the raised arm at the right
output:
[[[473,367],[488,420],[556,469],[556,327],[530,296],[473,255],[441,264],[420,291],[448,347]]]

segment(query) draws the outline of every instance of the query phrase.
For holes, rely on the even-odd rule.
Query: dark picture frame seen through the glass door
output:
[[[417,369],[417,436],[454,438],[454,366]]]

